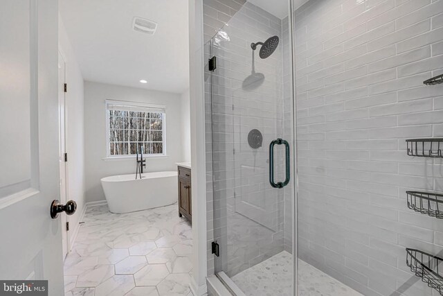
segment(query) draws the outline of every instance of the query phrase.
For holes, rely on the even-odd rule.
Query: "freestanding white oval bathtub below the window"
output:
[[[116,175],[102,178],[102,187],[112,213],[129,213],[177,202],[177,171]]]

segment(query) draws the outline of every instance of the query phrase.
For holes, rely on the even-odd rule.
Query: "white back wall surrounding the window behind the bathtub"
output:
[[[88,202],[105,200],[100,184],[102,177],[136,172],[135,157],[130,159],[105,159],[107,155],[105,100],[164,105],[166,107],[167,156],[148,157],[146,172],[177,170],[175,163],[183,161],[180,94],[87,81],[84,84],[84,98],[84,151],[86,200]]]

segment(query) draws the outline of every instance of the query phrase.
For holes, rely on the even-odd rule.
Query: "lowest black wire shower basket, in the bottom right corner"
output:
[[[429,287],[443,295],[443,259],[415,249],[406,248],[406,265]],[[443,268],[443,266],[441,266]]]

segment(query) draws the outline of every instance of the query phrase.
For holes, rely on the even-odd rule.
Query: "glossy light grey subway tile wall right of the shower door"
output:
[[[443,221],[405,191],[443,191],[442,161],[405,140],[443,135],[443,86],[423,85],[443,73],[442,19],[442,0],[296,10],[299,256],[363,295],[439,295],[405,249],[442,252]]]

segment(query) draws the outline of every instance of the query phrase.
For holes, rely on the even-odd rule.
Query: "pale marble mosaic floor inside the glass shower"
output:
[[[232,280],[247,296],[292,295],[292,255],[286,251],[239,272]],[[363,296],[299,260],[300,296]]]

